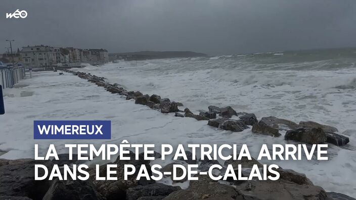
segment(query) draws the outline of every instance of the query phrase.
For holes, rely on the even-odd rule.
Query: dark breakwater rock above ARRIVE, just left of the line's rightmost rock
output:
[[[299,128],[296,130],[288,130],[284,136],[284,139],[308,144],[319,144],[326,142],[327,136],[321,128],[313,128],[310,130]]]

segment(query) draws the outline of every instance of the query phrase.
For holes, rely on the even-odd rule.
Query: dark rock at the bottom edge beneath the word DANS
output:
[[[104,200],[103,196],[98,193],[93,183],[89,180],[67,180],[61,181],[56,179],[53,181],[50,189],[44,195],[43,200]]]

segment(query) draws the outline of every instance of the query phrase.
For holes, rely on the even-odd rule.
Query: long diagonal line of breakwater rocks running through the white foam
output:
[[[143,94],[140,91],[127,91],[117,83],[110,84],[105,81],[106,79],[104,77],[98,77],[90,73],[74,72],[70,70],[66,70],[66,72],[87,79],[100,87],[104,87],[111,93],[124,95],[127,100],[134,99],[135,104],[146,105],[149,108],[164,114],[174,113],[174,116],[176,117],[189,117],[198,121],[207,120],[208,125],[224,130],[241,132],[252,126],[252,133],[254,134],[279,137],[282,135],[280,131],[287,131],[285,134],[286,140],[294,140],[309,144],[327,142],[342,146],[349,142],[348,137],[337,133],[337,128],[319,124],[317,122],[301,121],[297,124],[290,120],[273,116],[262,117],[261,120],[258,121],[254,114],[244,112],[238,113],[230,106],[223,108],[209,106],[208,111],[200,111],[199,114],[194,114],[188,108],[184,111],[180,110],[179,107],[182,107],[183,104],[170,101],[169,98],[161,98],[161,96],[157,94],[149,95]]]

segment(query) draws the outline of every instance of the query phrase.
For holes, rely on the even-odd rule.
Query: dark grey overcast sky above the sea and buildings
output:
[[[355,0],[2,0],[0,52],[45,44],[209,55],[356,46]],[[6,13],[26,10],[26,19]]]

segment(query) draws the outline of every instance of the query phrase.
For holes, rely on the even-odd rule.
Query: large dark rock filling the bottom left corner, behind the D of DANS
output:
[[[47,166],[51,172],[51,161],[34,161],[33,159],[0,159],[0,195],[27,196],[33,200],[42,199],[51,186],[49,180],[34,180],[34,165]],[[38,175],[44,171],[39,169]]]

